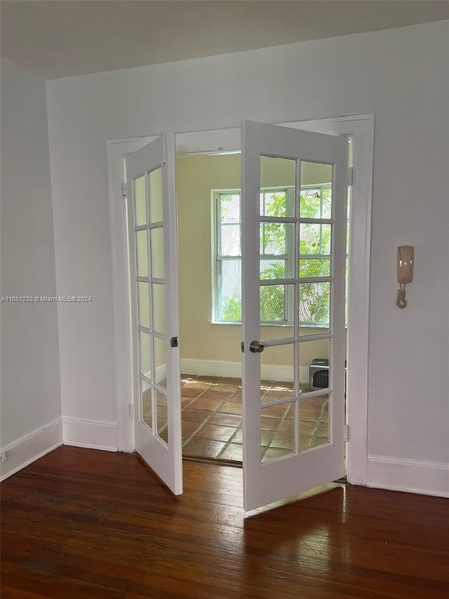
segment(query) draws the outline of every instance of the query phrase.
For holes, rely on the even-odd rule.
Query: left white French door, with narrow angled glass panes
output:
[[[135,450],[182,493],[174,136],[126,159]]]

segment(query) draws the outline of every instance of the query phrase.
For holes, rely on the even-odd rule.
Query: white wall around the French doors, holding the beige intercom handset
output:
[[[58,293],[93,296],[58,306],[63,414],[116,419],[107,139],[374,113],[368,482],[420,461],[449,492],[447,41],[435,22],[48,82]]]

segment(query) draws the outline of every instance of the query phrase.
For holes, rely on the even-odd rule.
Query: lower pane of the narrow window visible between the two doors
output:
[[[217,320],[241,320],[241,261],[218,261],[217,275]]]

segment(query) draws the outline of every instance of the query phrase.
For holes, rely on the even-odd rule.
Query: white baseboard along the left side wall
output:
[[[1,455],[6,462],[0,464],[0,480],[4,480],[62,445],[62,421],[60,418],[22,439],[2,447]]]

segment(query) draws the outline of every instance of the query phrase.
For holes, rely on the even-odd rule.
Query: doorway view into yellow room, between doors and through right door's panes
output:
[[[349,152],[351,160],[351,152]],[[291,161],[264,159],[261,202],[278,211],[295,202],[295,169]],[[349,162],[351,166],[351,162]],[[180,272],[180,337],[182,453],[184,458],[241,466],[241,154],[185,154],[176,159]],[[332,169],[303,163],[300,202],[311,217],[330,213]],[[349,199],[349,195],[348,195]],[[273,212],[274,213],[274,212]],[[262,276],[292,270],[294,240],[290,230],[265,225],[261,231]],[[326,276],[330,265],[330,228],[304,227],[302,276]],[[348,246],[349,247],[349,246]],[[307,286],[304,286],[307,287]],[[263,299],[261,338],[292,335],[293,298],[279,287],[267,287]],[[326,331],[329,297],[326,284],[309,284],[302,297],[302,334]],[[327,340],[304,343],[300,386],[304,392],[327,388]],[[281,348],[280,348],[281,349]],[[293,371],[286,350],[262,364],[262,402],[293,395]],[[319,360],[320,369],[311,366]],[[324,364],[324,365],[323,365]],[[312,374],[311,374],[312,373]],[[324,376],[323,376],[324,375]],[[293,407],[264,409],[262,460],[291,452]],[[328,442],[326,393],[302,400],[300,450]]]

